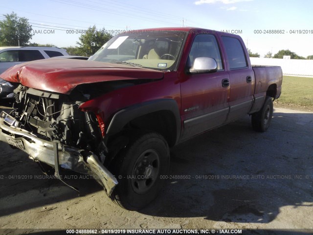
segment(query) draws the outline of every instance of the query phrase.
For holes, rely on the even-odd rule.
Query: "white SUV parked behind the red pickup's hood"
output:
[[[0,74],[23,62],[64,55],[66,49],[58,47],[0,47]]]

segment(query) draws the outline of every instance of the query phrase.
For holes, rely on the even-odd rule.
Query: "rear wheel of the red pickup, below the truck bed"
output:
[[[265,132],[270,125],[272,115],[273,101],[270,96],[267,96],[262,109],[251,116],[252,128],[258,132]]]

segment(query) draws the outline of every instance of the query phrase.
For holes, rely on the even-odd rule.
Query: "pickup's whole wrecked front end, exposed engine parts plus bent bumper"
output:
[[[58,178],[60,167],[92,175],[111,195],[118,183],[103,164],[108,151],[104,123],[93,112],[79,109],[87,97],[22,85],[14,95],[13,111],[0,114],[0,141],[22,149],[34,161],[53,166]]]

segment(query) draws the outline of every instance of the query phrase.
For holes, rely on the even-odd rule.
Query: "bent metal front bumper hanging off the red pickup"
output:
[[[18,127],[19,122],[6,114],[0,114],[0,141],[20,148],[34,161],[54,166],[59,176],[59,167],[67,168],[94,177],[110,196],[118,184],[112,173],[87,150],[63,145],[60,142],[45,141],[33,133]]]

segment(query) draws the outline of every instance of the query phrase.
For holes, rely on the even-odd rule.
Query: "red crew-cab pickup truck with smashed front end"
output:
[[[268,129],[280,67],[251,67],[243,40],[201,28],[116,35],[88,61],[27,62],[0,75],[15,86],[0,140],[45,170],[90,174],[129,210],[150,203],[169,148],[243,115]]]

